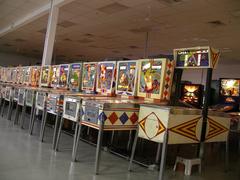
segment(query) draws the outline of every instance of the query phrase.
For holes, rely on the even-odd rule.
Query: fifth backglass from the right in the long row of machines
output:
[[[81,86],[82,63],[70,64],[69,89],[79,92]]]

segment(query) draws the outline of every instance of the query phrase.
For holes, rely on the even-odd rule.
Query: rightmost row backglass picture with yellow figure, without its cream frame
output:
[[[153,60],[142,61],[140,71],[139,92],[159,94],[162,62]]]

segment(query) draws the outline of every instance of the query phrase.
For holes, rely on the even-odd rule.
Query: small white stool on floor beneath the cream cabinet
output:
[[[175,165],[174,165],[174,168],[173,170],[176,171],[176,168],[177,168],[177,164],[178,163],[181,163],[181,164],[184,164],[185,166],[185,175],[187,176],[190,176],[191,175],[191,172],[192,172],[192,166],[194,165],[198,165],[198,170],[199,170],[199,173],[201,173],[202,171],[202,167],[201,167],[201,159],[200,158],[195,158],[195,159],[185,159],[185,158],[182,158],[182,157],[177,157],[176,158],[176,161],[175,161]]]

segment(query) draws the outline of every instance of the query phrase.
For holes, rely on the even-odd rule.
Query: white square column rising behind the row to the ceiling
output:
[[[55,42],[56,28],[58,22],[59,7],[51,3],[51,9],[48,18],[47,32],[45,36],[42,65],[50,65],[52,62],[53,47]]]

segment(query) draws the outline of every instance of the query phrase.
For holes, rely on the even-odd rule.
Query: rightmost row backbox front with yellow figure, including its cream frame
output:
[[[166,63],[167,59],[143,59],[140,61],[138,96],[162,99]]]

